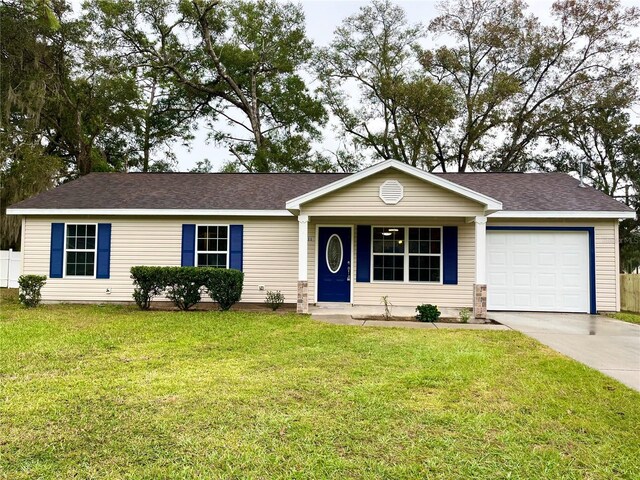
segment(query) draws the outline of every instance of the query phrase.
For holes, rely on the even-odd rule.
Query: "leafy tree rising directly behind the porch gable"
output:
[[[346,162],[355,167],[373,153],[432,169],[431,130],[455,117],[453,89],[419,75],[414,50],[424,28],[409,23],[404,10],[375,0],[346,18],[333,42],[321,49],[315,69],[320,91],[341,139],[353,145]],[[354,87],[359,99],[351,98]],[[345,157],[344,149],[337,152]]]

